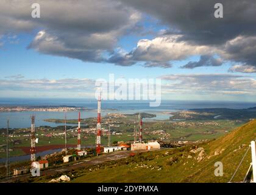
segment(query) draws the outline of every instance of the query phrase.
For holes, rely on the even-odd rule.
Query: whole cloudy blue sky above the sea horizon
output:
[[[92,98],[96,79],[162,79],[163,99],[256,99],[256,1],[0,1],[0,97]],[[221,2],[224,18],[215,18]]]

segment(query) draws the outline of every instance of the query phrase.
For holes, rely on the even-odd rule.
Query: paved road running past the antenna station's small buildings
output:
[[[130,154],[130,151],[118,151],[118,152],[112,152],[110,154],[99,155],[98,157],[86,158],[85,160],[77,161],[77,163],[73,163],[71,165],[67,164],[67,165],[60,166],[59,168],[50,168],[50,169],[41,171],[41,176],[49,176],[49,175],[55,174],[56,172],[71,171],[72,169],[82,168],[89,165],[97,165],[105,161],[119,160],[121,158],[129,157],[129,154]],[[30,173],[24,174],[21,176],[13,176],[13,177],[0,180],[0,183],[15,182],[17,180],[22,181],[29,177],[30,177]]]

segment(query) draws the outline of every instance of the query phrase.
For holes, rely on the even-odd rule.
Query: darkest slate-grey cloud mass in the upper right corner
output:
[[[256,35],[256,1],[233,0],[121,0],[141,12],[180,30],[182,40],[197,44],[223,44],[238,35]],[[224,18],[214,16],[216,2],[224,7]]]

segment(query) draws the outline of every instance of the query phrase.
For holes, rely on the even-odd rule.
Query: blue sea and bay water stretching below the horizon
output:
[[[88,110],[81,112],[81,118],[91,118],[97,116],[96,99],[46,99],[46,98],[0,98],[1,106],[29,106],[29,105],[69,105],[76,107],[85,107]],[[164,120],[172,116],[171,112],[180,110],[189,110],[191,108],[250,108],[256,107],[256,102],[232,102],[232,101],[168,101],[163,100],[159,107],[150,107],[149,101],[104,101],[102,100],[102,116],[107,113],[125,113],[132,114],[146,112],[155,114],[156,117],[148,120]],[[63,112],[1,112],[0,128],[6,128],[7,118],[9,118],[10,128],[30,127],[30,116],[35,115],[35,126],[62,126],[64,124],[55,124],[46,122],[44,119],[63,119]],[[76,119],[77,112],[68,112],[67,119]],[[69,124],[70,125],[70,124]],[[76,124],[74,124],[76,126]]]

